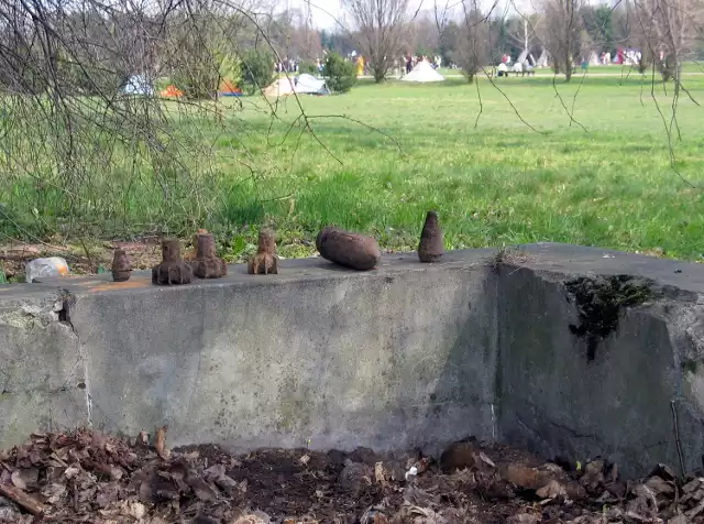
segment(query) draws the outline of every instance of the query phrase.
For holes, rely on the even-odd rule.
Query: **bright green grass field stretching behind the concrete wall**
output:
[[[221,176],[193,223],[216,231],[234,259],[263,223],[286,258],[314,253],[331,223],[414,250],[425,212],[437,209],[448,249],[556,241],[704,260],[704,109],[679,100],[678,174],[666,131],[671,87],[635,75],[482,79],[479,91],[462,80],[363,81],[348,95],[300,99],[315,137],[290,128],[295,99],[279,102],[275,120],[246,99],[238,130],[205,132]],[[704,103],[704,76],[684,87]],[[261,174],[246,177],[240,161]],[[173,219],[158,215],[160,195],[135,187],[122,229],[96,234]]]

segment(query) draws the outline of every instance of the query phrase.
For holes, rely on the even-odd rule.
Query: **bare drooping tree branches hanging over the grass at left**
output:
[[[6,234],[179,233],[221,212],[232,197],[222,187],[275,168],[250,154],[267,139],[243,124],[242,105],[216,96],[243,46],[274,45],[256,9],[0,0]],[[170,83],[185,96],[160,95]],[[221,138],[229,148],[216,155]]]

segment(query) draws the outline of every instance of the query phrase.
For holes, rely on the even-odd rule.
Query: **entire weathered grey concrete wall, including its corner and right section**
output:
[[[704,452],[704,268],[598,249],[320,259],[279,275],[152,286],[135,273],[0,291],[0,444],[91,423],[169,444],[376,449],[475,435],[546,457],[603,455],[627,474]],[[604,258],[607,255],[607,258]],[[586,359],[565,280],[632,274],[658,288]]]

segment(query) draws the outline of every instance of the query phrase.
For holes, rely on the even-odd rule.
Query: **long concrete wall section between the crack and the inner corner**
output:
[[[174,445],[235,448],[492,438],[495,279],[476,262],[389,260],[364,275],[304,261],[178,288],[139,274],[140,288],[72,288],[94,424],[167,423]]]

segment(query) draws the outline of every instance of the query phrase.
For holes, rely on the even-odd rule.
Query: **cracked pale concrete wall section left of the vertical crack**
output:
[[[1,444],[89,421],[85,359],[70,325],[58,321],[63,305],[51,287],[0,286]]]

